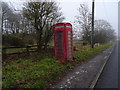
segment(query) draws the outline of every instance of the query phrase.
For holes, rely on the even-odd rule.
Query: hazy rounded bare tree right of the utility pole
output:
[[[95,21],[95,43],[106,43],[115,40],[115,30],[105,20]]]

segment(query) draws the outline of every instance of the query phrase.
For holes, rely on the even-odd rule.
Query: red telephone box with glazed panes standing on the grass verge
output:
[[[54,25],[54,55],[61,62],[73,60],[72,25],[70,23]]]

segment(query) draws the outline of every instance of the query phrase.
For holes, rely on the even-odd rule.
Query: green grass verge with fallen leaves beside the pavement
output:
[[[3,66],[3,88],[43,88],[53,80],[65,73],[70,67],[87,60],[106,49],[111,43],[101,45],[94,49],[90,46],[75,51],[75,60],[62,64],[54,57],[46,57],[42,60],[19,59]]]

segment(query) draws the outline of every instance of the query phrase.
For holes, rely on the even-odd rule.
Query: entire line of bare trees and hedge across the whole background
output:
[[[2,5],[2,41],[3,46],[42,45],[53,39],[53,25],[62,22],[64,17],[56,2],[27,2],[20,11]],[[75,17],[74,37],[80,37],[91,43],[92,14],[85,4],[80,4],[79,15]],[[115,30],[105,20],[95,20],[94,43],[106,43],[115,40]]]

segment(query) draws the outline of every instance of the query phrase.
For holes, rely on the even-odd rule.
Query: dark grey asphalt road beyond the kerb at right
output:
[[[118,62],[120,59],[118,48],[120,49],[120,42],[116,44],[95,88],[118,88],[118,63],[120,64],[120,61]]]

